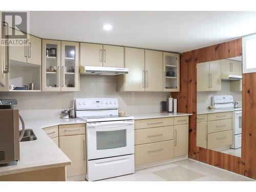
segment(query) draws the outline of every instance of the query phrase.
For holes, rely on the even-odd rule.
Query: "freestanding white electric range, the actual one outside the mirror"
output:
[[[86,179],[134,173],[134,117],[118,115],[118,99],[76,99],[75,110],[87,122]]]

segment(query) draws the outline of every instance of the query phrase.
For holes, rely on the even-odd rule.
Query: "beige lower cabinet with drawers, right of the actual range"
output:
[[[135,120],[135,165],[188,154],[188,116]]]

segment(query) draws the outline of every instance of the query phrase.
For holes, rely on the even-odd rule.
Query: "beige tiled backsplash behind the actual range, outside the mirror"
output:
[[[74,108],[75,98],[118,98],[119,110],[127,114],[160,112],[160,101],[168,92],[117,92],[114,76],[80,76],[79,92],[2,92],[0,98],[17,99],[24,119],[59,118],[64,109]]]

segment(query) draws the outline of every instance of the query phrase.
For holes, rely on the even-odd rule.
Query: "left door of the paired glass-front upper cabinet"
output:
[[[42,39],[42,91],[60,91],[61,41]]]

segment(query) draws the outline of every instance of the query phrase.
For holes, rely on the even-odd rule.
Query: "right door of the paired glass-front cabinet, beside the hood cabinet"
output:
[[[61,41],[61,91],[79,91],[78,42]]]

